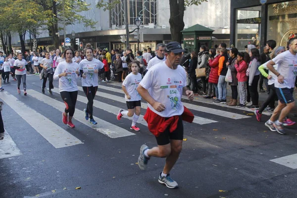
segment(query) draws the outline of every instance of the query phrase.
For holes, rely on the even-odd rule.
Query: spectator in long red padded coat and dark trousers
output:
[[[220,48],[214,49],[211,48],[209,49],[209,54],[210,57],[208,59],[208,65],[210,67],[210,72],[209,72],[209,77],[208,77],[208,93],[205,99],[210,99],[218,97],[218,81],[219,81],[219,58],[221,57],[220,55]],[[211,95],[211,93],[213,93]]]

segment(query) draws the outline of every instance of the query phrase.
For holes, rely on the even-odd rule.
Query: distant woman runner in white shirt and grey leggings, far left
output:
[[[18,59],[14,61],[14,68],[15,68],[15,77],[17,79],[17,92],[20,94],[20,85],[21,80],[23,81],[23,88],[24,88],[24,95],[27,96],[26,92],[26,65],[28,64],[25,59],[23,59],[22,53],[17,53]]]

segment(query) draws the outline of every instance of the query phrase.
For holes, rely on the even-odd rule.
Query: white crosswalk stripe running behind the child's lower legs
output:
[[[51,90],[51,91],[54,92],[54,93],[60,94],[58,91],[54,91],[54,90]],[[84,103],[88,103],[87,97],[83,97],[83,96],[80,96],[80,95],[77,96],[77,100],[81,101],[81,102],[84,102]],[[97,108],[100,108],[100,109],[102,109],[104,111],[107,111],[109,113],[112,113],[114,115],[117,115],[119,110],[121,109],[121,108],[118,108],[116,106],[113,106],[113,105],[110,105],[110,104],[107,104],[107,103],[103,103],[103,102],[100,102],[100,101],[95,100],[95,99],[94,99],[93,106],[97,107]],[[114,117],[114,118],[116,118],[116,117]],[[124,118],[128,118],[129,120],[133,120],[133,116],[132,117],[125,116]],[[148,123],[145,121],[143,115],[139,116],[139,119],[138,119],[137,123],[148,126]]]

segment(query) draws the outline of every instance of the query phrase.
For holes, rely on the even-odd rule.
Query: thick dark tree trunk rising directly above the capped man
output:
[[[169,0],[170,6],[170,31],[171,40],[181,43],[183,34],[181,31],[185,27],[184,13],[185,13],[185,0]]]

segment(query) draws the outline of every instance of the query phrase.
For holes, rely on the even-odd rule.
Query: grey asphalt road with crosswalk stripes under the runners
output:
[[[143,120],[140,132],[130,130],[131,120],[116,120],[113,111],[126,108],[118,84],[99,84],[97,128],[84,120],[86,97],[79,91],[74,129],[61,121],[57,84],[52,96],[41,94],[38,76],[27,76],[28,96],[17,94],[14,81],[3,86],[0,198],[297,197],[297,125],[282,136],[264,126],[268,115],[257,122],[247,109],[184,100],[200,118],[184,123],[187,140],[171,171],[179,188],[172,190],[157,181],[165,159],[151,158],[147,171],[136,164],[140,146],[156,141]]]

